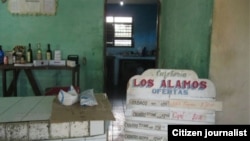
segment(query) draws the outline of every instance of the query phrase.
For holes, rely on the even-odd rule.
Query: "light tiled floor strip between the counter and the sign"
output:
[[[110,103],[112,104],[115,121],[111,121],[108,132],[108,141],[123,141],[126,90],[122,87],[112,87],[107,91]]]

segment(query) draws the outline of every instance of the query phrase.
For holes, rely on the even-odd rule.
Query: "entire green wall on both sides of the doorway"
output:
[[[212,9],[213,0],[161,1],[159,68],[192,69],[199,77],[208,77]],[[45,51],[50,43],[52,50],[62,51],[64,59],[79,55],[81,90],[104,91],[104,0],[58,0],[55,16],[12,15],[6,2],[0,4],[0,18],[0,44],[4,50],[28,43],[35,50],[34,45],[41,43]],[[86,65],[82,64],[83,57],[87,58]],[[67,71],[34,74],[41,91],[71,83]],[[23,72],[18,89],[18,95],[33,95]]]

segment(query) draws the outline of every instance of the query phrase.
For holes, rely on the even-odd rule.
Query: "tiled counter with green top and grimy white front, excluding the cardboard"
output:
[[[54,98],[1,97],[0,140],[107,140],[108,120],[51,122]]]

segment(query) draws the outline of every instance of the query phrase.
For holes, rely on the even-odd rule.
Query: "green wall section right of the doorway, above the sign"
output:
[[[162,0],[159,68],[208,77],[212,9],[213,0]]]

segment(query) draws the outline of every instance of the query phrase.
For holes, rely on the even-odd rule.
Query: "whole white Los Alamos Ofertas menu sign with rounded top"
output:
[[[192,70],[149,69],[130,78],[125,141],[168,140],[170,124],[215,124],[222,103],[214,84]]]

